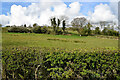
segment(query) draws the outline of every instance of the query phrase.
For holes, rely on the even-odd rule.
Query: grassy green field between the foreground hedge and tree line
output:
[[[67,49],[118,48],[118,40],[94,36],[48,35],[34,33],[3,33],[2,47],[47,47]]]

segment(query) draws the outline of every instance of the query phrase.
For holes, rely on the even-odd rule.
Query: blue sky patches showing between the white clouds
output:
[[[71,2],[64,2],[68,7]],[[94,8],[96,5],[99,5],[101,2],[81,2],[81,10],[80,13],[87,16],[88,12],[94,11]],[[108,4],[109,2],[102,2],[102,4]],[[2,3],[2,14],[7,15],[7,13],[10,13],[10,8],[12,5],[21,5],[22,7],[28,7],[31,5],[31,2],[3,2]]]

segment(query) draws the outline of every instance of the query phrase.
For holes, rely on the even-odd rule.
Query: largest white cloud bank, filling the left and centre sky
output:
[[[80,7],[81,4],[79,2],[71,3],[68,8],[64,2],[44,2],[41,0],[40,3],[32,3],[28,7],[12,5],[11,15],[4,15],[4,17],[9,17],[9,19],[6,19],[7,24],[9,21],[9,25],[32,25],[34,23],[49,25],[51,16],[59,17],[67,15],[70,19],[74,16],[78,16]],[[53,8],[53,10],[51,8]],[[3,19],[3,17],[0,17],[0,19]]]

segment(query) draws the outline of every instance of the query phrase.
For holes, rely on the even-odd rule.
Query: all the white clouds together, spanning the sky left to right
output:
[[[79,2],[72,2],[69,7],[58,0],[59,2],[46,2],[48,0],[40,0],[40,3],[32,3],[28,7],[22,7],[20,5],[12,5],[11,6],[11,14],[10,15],[0,15],[0,20],[2,20],[2,24],[9,25],[32,25],[34,23],[38,23],[39,25],[50,25],[50,17],[51,16],[62,16],[66,15],[69,17],[69,22],[75,17],[86,17],[94,22],[99,21],[111,21],[116,20],[116,15],[113,13],[111,8],[115,7],[112,4],[100,4],[97,5],[94,9],[94,12],[89,12],[88,16],[84,16],[80,13],[81,6]],[[52,9],[51,9],[52,8]]]

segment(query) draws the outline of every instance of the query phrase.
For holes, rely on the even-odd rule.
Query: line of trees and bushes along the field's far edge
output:
[[[6,26],[10,27],[8,32],[18,32],[18,33],[44,33],[44,34],[69,34],[69,30],[77,31],[80,36],[91,36],[91,35],[109,35],[109,36],[118,36],[119,32],[114,29],[115,23],[112,23],[112,26],[107,21],[100,21],[99,25],[95,29],[93,24],[88,21],[85,17],[74,18],[71,21],[69,27],[66,27],[68,17],[62,16],[61,18],[52,17],[50,18],[51,26],[39,26],[37,23],[32,26]]]

